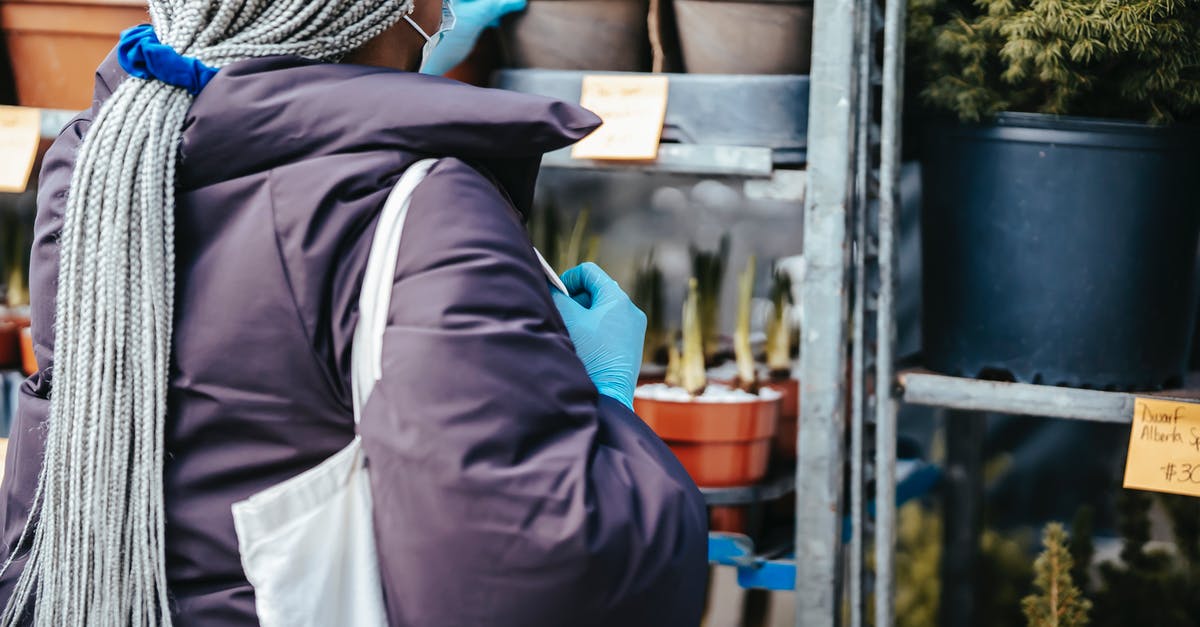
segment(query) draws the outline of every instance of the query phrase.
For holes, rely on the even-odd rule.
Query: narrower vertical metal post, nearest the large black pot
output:
[[[883,104],[880,131],[880,298],[875,351],[875,625],[895,622],[896,400],[893,392],[896,341],[895,283],[900,203],[900,129],[904,115],[905,0],[883,13]]]

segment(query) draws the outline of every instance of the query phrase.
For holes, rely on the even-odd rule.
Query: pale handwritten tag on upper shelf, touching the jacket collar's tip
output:
[[[580,104],[604,125],[575,144],[575,159],[653,161],[667,115],[665,76],[586,76]]]

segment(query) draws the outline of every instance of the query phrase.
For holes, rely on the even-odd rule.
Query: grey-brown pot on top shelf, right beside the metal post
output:
[[[674,0],[684,67],[698,74],[806,74],[812,4]]]

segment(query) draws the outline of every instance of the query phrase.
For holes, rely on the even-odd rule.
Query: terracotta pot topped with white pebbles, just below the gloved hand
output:
[[[748,485],[767,474],[779,400],[743,402],[634,399],[634,411],[679,458],[697,485]]]

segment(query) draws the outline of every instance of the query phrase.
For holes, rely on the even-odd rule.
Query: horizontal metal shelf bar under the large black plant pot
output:
[[[1146,393],[1102,392],[980,381],[919,370],[901,372],[898,381],[904,401],[913,405],[1098,423],[1132,422],[1134,399],[1139,396],[1200,401],[1198,388]]]

